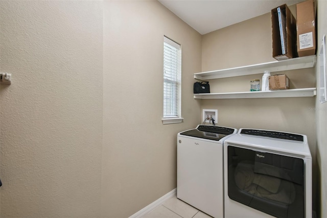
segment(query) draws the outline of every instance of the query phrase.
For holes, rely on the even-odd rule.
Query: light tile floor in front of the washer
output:
[[[173,197],[156,207],[143,218],[212,218],[212,216],[192,207],[189,204]]]

